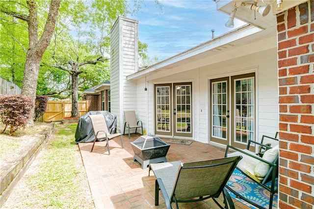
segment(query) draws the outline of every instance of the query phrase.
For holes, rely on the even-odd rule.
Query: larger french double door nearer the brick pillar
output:
[[[255,139],[255,74],[210,80],[210,141],[246,148]]]

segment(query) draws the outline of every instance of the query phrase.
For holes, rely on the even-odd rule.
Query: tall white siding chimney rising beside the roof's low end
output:
[[[135,110],[136,82],[127,76],[138,71],[138,21],[118,17],[110,31],[111,113],[123,132],[124,110]]]

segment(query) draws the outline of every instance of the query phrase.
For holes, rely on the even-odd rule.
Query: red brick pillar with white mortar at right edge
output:
[[[313,209],[314,0],[278,14],[277,32],[279,207]]]

